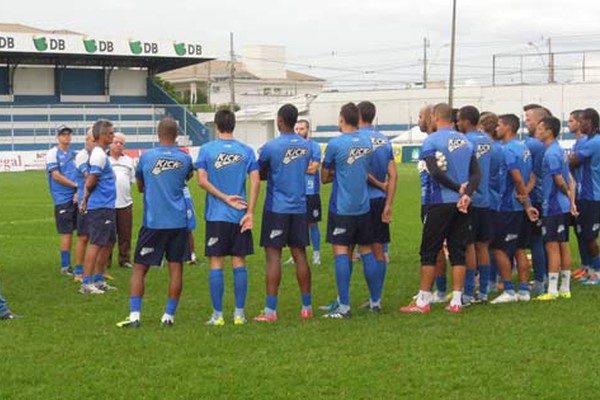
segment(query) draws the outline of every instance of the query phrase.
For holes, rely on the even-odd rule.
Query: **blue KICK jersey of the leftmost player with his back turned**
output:
[[[192,172],[192,158],[175,146],[158,146],[142,154],[135,176],[144,182],[144,227],[188,227],[183,189]]]

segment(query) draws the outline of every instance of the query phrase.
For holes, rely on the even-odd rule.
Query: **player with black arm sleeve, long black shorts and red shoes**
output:
[[[452,108],[445,103],[433,109],[437,132],[423,142],[421,159],[430,174],[431,194],[421,240],[421,284],[416,301],[400,309],[404,313],[427,313],[433,295],[431,287],[439,252],[448,243],[452,264],[452,300],[446,310],[462,308],[466,239],[469,234],[467,210],[480,179],[473,146],[453,129]]]

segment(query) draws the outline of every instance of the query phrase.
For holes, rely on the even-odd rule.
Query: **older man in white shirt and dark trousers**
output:
[[[131,229],[133,224],[133,199],[131,184],[135,182],[133,159],[123,153],[125,135],[115,133],[110,146],[110,164],[117,180],[117,241],[119,245],[119,266],[131,268]],[[112,253],[112,251],[111,251]]]

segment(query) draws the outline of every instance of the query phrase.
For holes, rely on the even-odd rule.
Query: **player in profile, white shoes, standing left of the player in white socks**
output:
[[[500,207],[494,219],[494,240],[490,247],[493,249],[498,270],[502,276],[504,292],[492,300],[492,304],[529,301],[529,267],[517,263],[519,269],[519,294],[515,293],[512,281],[512,260],[517,250],[519,234],[522,232],[527,217],[535,221],[539,217],[536,208],[531,206],[527,194],[527,185],[535,180],[532,172],[531,153],[525,144],[517,140],[519,118],[514,114],[501,115],[498,120],[498,139],[502,147],[504,161],[500,167],[502,193]],[[532,183],[534,184],[534,183]]]

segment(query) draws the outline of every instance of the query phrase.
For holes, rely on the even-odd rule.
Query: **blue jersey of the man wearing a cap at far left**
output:
[[[75,168],[76,153],[69,149],[62,151],[58,146],[48,150],[46,154],[46,172],[48,172],[48,186],[50,194],[55,205],[66,204],[73,201],[75,196],[75,188],[64,186],[52,178],[52,172],[58,171],[65,178],[76,182],[77,170]]]

